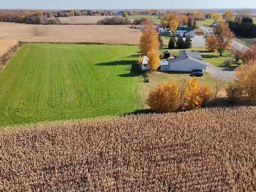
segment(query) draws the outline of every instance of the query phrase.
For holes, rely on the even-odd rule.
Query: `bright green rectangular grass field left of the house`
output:
[[[136,46],[24,45],[0,73],[0,126],[141,109]]]

